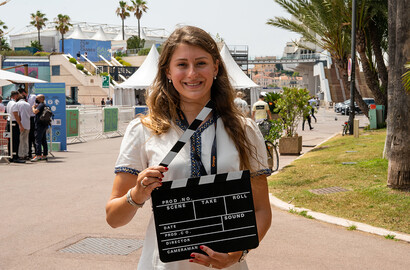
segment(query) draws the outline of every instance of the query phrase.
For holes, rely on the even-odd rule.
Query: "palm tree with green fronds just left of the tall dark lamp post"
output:
[[[327,50],[338,67],[345,89],[350,88],[347,63],[350,54],[350,19],[345,19],[351,0],[275,0],[299,22],[275,17],[267,24],[299,33],[304,40]],[[350,13],[351,14],[351,13]],[[301,44],[298,44],[301,46]],[[303,46],[303,45],[302,45]],[[309,48],[308,48],[309,49]],[[368,115],[367,104],[354,87],[355,100],[364,114]]]

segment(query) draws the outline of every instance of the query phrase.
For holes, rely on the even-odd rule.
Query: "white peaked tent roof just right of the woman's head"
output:
[[[233,59],[231,53],[229,52],[226,44],[222,47],[221,57],[225,63],[226,70],[228,72],[229,80],[233,88],[235,89],[246,89],[246,88],[255,88],[260,87],[254,83],[243,70],[238,66],[238,64]]]

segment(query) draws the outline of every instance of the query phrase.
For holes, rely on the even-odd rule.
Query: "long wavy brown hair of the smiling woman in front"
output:
[[[214,39],[204,30],[194,26],[184,26],[176,29],[164,43],[159,58],[158,73],[152,87],[147,91],[146,102],[149,113],[142,116],[144,126],[155,134],[166,133],[171,123],[178,119],[180,109],[179,93],[168,81],[167,70],[170,60],[179,44],[200,47],[208,52],[214,63],[219,62],[218,74],[211,87],[211,99],[216,104],[216,110],[221,117],[225,129],[235,143],[239,153],[240,169],[251,169],[249,157],[256,157],[256,149],[251,149],[251,143],[246,137],[245,119],[234,105],[235,90],[229,82],[228,73]],[[252,147],[254,148],[254,147]]]

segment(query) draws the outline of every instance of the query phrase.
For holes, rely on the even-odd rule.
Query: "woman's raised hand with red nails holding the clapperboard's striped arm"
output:
[[[162,186],[162,178],[168,171],[167,167],[149,167],[138,174],[137,183],[131,190],[131,198],[138,204],[144,203],[151,197],[151,192]]]

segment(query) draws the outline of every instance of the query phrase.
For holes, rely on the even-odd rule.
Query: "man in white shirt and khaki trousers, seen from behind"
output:
[[[32,112],[30,104],[19,96],[16,105],[12,108],[14,118],[20,127],[20,144],[18,155],[20,159],[28,159],[28,136],[30,133],[30,115]]]

